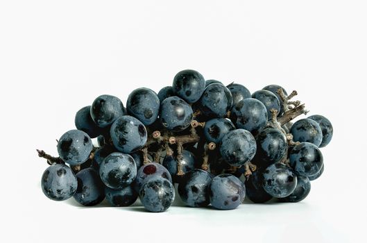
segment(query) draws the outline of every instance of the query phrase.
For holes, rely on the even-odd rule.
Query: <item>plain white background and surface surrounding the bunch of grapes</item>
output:
[[[0,242],[366,242],[365,1],[1,1]],[[334,125],[301,203],[218,211],[46,199],[56,139],[99,94],[126,103],[182,69],[298,90]]]

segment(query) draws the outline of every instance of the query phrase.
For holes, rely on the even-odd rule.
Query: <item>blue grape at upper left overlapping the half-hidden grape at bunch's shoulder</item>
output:
[[[119,98],[104,94],[93,101],[90,115],[97,126],[105,128],[126,115],[126,110]]]

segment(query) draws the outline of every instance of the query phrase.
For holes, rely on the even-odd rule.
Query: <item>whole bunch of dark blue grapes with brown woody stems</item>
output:
[[[58,140],[58,157],[42,150],[49,167],[42,190],[84,206],[104,199],[163,212],[178,194],[191,207],[234,209],[245,195],[254,203],[298,202],[323,174],[320,148],[332,139],[328,119],[307,114],[279,85],[250,94],[184,70],[158,94],[142,87],[126,108],[111,95],[76,113],[76,130]],[[94,146],[92,138],[96,139]]]

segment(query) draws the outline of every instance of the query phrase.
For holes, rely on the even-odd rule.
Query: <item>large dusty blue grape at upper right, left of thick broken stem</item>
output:
[[[258,133],[266,126],[268,112],[261,101],[248,98],[239,101],[232,107],[230,119],[237,128],[243,128],[250,133]]]

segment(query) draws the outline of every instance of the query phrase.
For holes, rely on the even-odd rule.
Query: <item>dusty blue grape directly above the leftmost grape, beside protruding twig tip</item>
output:
[[[71,130],[58,140],[58,154],[62,161],[69,165],[81,165],[87,161],[92,152],[93,144],[87,133]]]

